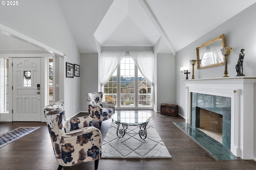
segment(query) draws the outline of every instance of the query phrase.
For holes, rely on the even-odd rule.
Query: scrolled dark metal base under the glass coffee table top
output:
[[[128,134],[139,134],[140,138],[145,139],[147,137],[147,125],[148,123],[141,123],[140,125],[132,125],[132,124],[128,124],[128,123],[121,123],[118,121],[115,121],[115,123],[117,124],[117,129],[116,129],[116,135],[119,138],[122,138],[126,133]],[[120,125],[122,125],[122,127],[120,128]],[[126,132],[128,126],[138,126],[140,127],[140,130],[138,133],[130,133],[130,132]]]

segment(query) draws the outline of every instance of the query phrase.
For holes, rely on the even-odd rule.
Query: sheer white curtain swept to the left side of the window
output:
[[[104,84],[107,83],[108,79],[116,70],[116,67],[120,63],[125,51],[102,51],[100,56],[100,83],[101,92],[104,92]]]

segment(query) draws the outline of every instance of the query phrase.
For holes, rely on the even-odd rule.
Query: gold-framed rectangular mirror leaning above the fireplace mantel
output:
[[[224,65],[220,49],[225,47],[224,34],[196,47],[197,69]]]

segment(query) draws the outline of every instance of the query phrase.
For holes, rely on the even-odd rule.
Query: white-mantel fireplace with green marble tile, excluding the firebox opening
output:
[[[186,83],[186,123],[196,126],[196,108],[221,114],[222,144],[237,157],[256,160],[256,77],[182,81]]]

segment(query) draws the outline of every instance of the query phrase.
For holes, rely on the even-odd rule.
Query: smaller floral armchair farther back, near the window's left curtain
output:
[[[101,127],[102,121],[111,119],[115,114],[115,103],[102,101],[103,92],[87,93],[89,116],[93,121],[98,121]]]

